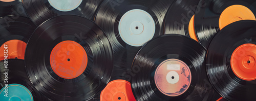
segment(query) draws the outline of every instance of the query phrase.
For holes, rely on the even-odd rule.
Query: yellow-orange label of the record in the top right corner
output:
[[[220,30],[230,23],[240,20],[256,20],[254,14],[245,6],[232,5],[227,7],[220,16],[219,27]]]

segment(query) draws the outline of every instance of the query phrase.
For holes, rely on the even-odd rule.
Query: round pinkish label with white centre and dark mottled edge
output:
[[[155,83],[163,94],[179,96],[188,89],[191,83],[191,73],[183,61],[167,59],[157,67]]]

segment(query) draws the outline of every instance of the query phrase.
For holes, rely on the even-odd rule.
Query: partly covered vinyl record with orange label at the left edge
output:
[[[27,42],[36,26],[29,18],[6,16],[0,18],[0,60],[4,60],[5,46],[9,58],[24,59]]]

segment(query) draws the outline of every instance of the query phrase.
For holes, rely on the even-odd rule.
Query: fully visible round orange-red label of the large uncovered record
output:
[[[58,43],[50,55],[52,70],[56,75],[65,79],[80,76],[86,70],[87,62],[86,51],[74,41]]]

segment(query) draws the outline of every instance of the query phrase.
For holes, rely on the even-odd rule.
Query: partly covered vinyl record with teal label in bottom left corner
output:
[[[0,61],[0,76],[1,76],[1,79],[0,79],[0,84],[2,84],[0,87],[1,89],[5,86],[5,84],[8,84],[8,85],[13,85],[13,84],[20,84],[22,86],[25,86],[31,93],[32,93],[32,99],[33,100],[50,100],[48,99],[47,97],[45,97],[44,95],[40,94],[36,89],[35,87],[32,85],[32,83],[30,82],[28,76],[27,76],[27,72],[26,72],[26,69],[25,69],[25,64],[24,64],[24,60],[21,60],[21,59],[8,59],[8,71],[6,71],[6,68],[5,68],[5,63],[4,61]],[[7,82],[5,82],[6,80],[6,74],[4,73],[7,73],[8,75],[8,80]],[[16,87],[17,88],[17,87]],[[15,89],[15,88],[14,88]],[[18,97],[20,98],[24,98],[24,95],[22,95],[22,93],[26,93],[26,92],[22,92],[22,91],[17,91],[17,92],[11,92],[12,89],[10,86],[9,86],[9,97],[10,100],[11,100],[11,95],[13,96],[17,96],[17,95],[20,95]],[[4,93],[3,91],[1,91],[2,93]],[[1,94],[1,97],[3,97],[3,99],[6,98],[6,96],[2,96]],[[30,98],[27,97],[27,98]],[[2,98],[1,98],[2,99]],[[25,100],[25,99],[22,99],[22,100]]]

